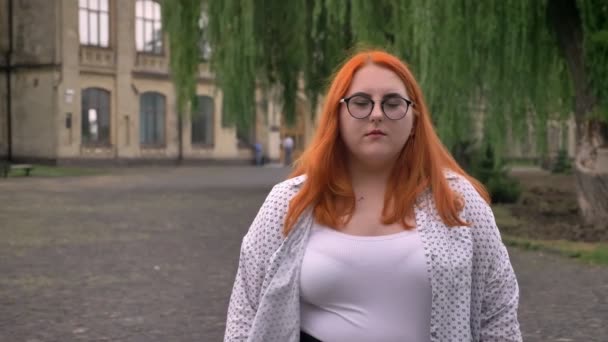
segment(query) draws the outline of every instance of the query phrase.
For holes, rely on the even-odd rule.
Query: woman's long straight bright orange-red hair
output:
[[[419,195],[430,188],[443,222],[448,226],[467,225],[458,215],[464,203],[459,194],[450,188],[446,170],[468,179],[486,202],[490,202],[483,185],[456,163],[439,140],[420,86],[408,67],[387,52],[363,51],[348,59],[335,74],[324,98],[315,136],[295,163],[290,178],[305,174],[306,180],[289,204],[283,228],[285,235],[289,234],[298,218],[310,206],[313,206],[315,220],[329,227],[341,227],[352,217],[356,202],[347,170],[347,149],[339,136],[339,101],[346,95],[357,70],[368,63],[388,68],[397,74],[415,103],[413,135],[403,147],[391,172],[384,197],[382,223],[400,222],[404,228],[411,229],[405,219],[413,215]]]

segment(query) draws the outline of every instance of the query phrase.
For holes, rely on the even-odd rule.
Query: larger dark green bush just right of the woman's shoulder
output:
[[[486,186],[492,196],[492,202],[517,202],[522,192],[521,186],[509,175],[505,163],[495,157],[491,146],[477,151],[473,160],[470,172]]]

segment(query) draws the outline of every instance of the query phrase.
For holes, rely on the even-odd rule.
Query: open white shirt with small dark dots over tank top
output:
[[[469,227],[447,227],[429,192],[416,207],[432,304],[431,341],[521,341],[519,288],[492,210],[470,182],[447,172],[465,200]],[[289,200],[305,176],[275,185],[243,238],[224,341],[296,342],[300,337],[300,266],[312,212],[281,235]]]

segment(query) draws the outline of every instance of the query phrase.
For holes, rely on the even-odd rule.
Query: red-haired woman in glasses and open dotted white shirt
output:
[[[521,341],[488,202],[409,69],[356,54],[243,239],[225,341]]]

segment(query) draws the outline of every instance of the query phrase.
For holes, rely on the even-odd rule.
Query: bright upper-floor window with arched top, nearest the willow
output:
[[[163,53],[163,31],[160,4],[153,0],[135,3],[135,47],[137,51]]]

